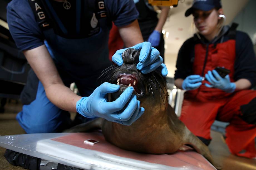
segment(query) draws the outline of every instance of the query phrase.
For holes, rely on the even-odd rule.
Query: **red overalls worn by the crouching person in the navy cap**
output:
[[[204,44],[195,45],[193,74],[202,74],[206,50],[207,46]],[[210,44],[203,75],[208,70],[223,66],[231,70],[229,76],[231,82],[234,82],[235,56],[235,40],[233,39],[217,44],[216,48]],[[230,152],[247,158],[256,157],[254,142],[256,125],[250,125],[239,117],[242,114],[240,106],[248,104],[255,98],[256,91],[241,90],[226,93],[217,88],[208,88],[204,83],[209,82],[205,80],[200,88],[184,94],[180,120],[196,136],[209,140],[211,139],[210,128],[215,119],[229,122],[230,125],[226,128],[226,143]],[[240,153],[241,151],[243,153]]]

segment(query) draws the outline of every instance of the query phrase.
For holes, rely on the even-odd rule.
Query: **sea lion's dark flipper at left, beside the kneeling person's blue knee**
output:
[[[86,123],[76,125],[70,129],[66,129],[63,132],[87,132],[93,129],[101,129],[103,121],[103,118],[96,118]]]

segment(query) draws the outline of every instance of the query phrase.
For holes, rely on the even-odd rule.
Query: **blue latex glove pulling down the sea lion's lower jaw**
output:
[[[103,83],[89,97],[77,101],[77,112],[88,118],[102,117],[122,125],[131,125],[141,117],[145,109],[140,108],[140,102],[132,94],[133,87],[125,89],[117,100],[108,102],[106,94],[117,92],[119,88],[116,84]],[[126,103],[127,107],[122,110]]]

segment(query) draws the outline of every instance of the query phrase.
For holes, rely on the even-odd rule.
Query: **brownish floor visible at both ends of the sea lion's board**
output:
[[[7,103],[5,112],[0,113],[0,135],[24,134],[25,131],[19,126],[15,117],[22,109],[20,103]],[[72,114],[74,117],[74,114]],[[222,165],[223,170],[256,170],[256,160],[241,158],[230,154],[228,147],[221,140],[221,134],[211,131],[213,138],[209,145],[210,151],[216,162]],[[4,158],[5,148],[0,147],[0,170],[21,170],[23,168],[15,167],[9,164]]]

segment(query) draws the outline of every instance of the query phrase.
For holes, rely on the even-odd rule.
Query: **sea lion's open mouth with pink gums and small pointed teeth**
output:
[[[138,87],[138,78],[135,75],[122,73],[117,76],[118,85],[133,86],[137,95],[142,94],[142,90]]]

